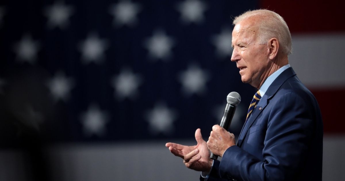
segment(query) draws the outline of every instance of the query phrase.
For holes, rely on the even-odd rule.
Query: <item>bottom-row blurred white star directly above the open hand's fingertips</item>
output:
[[[174,131],[172,123],[176,119],[176,113],[174,110],[167,108],[165,104],[156,104],[151,111],[147,112],[146,117],[152,134],[163,133],[169,135]]]

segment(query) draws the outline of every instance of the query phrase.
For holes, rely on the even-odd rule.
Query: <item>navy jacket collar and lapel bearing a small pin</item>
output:
[[[278,91],[280,86],[290,77],[295,76],[296,73],[292,68],[284,70],[269,86],[265,95],[260,99],[256,108],[253,110],[252,115],[248,118],[247,122],[244,124],[242,131],[239,134],[237,145],[241,147],[243,140],[245,139],[249,128],[252,126],[258,115],[265,109],[267,101],[273,97],[273,95]]]

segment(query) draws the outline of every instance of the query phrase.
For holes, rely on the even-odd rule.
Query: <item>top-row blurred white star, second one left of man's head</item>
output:
[[[110,7],[110,14],[114,16],[115,26],[121,27],[123,25],[134,26],[137,23],[137,14],[140,11],[140,6],[137,3],[130,1],[120,1]]]

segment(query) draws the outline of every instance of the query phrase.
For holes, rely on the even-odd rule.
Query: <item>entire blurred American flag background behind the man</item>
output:
[[[318,100],[323,180],[345,180],[342,1],[1,1],[0,180],[198,180],[166,142],[194,145],[255,89],[230,61],[232,20],[284,17],[290,65]]]

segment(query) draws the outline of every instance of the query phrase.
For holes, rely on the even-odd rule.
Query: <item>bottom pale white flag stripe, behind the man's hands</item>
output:
[[[195,140],[169,140],[194,145]],[[165,142],[117,144],[65,144],[44,149],[52,181],[198,180],[200,172],[189,170]],[[345,180],[345,135],[324,136],[323,180]],[[30,180],[28,158],[21,151],[0,150],[1,180]]]

